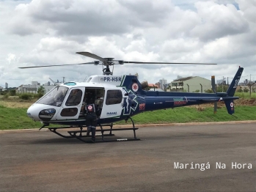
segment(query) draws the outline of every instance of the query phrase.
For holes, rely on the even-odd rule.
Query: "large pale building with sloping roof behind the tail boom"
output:
[[[195,92],[196,90],[205,92],[205,90],[211,89],[211,80],[199,76],[180,78],[171,82],[171,89],[183,89],[187,92]]]

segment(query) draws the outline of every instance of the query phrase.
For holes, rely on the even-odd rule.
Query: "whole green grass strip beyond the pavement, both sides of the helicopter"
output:
[[[256,106],[236,106],[235,116],[227,114],[225,107],[218,108],[213,114],[213,107],[198,111],[194,107],[180,107],[175,109],[148,111],[133,117],[134,123],[173,123],[173,122],[227,122],[256,120]],[[117,122],[118,125],[125,121]],[[0,130],[40,128],[40,122],[34,122],[26,116],[26,108],[8,108],[0,105]]]

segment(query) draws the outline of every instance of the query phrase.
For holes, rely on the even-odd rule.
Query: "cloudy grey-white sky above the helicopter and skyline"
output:
[[[208,62],[217,65],[124,64],[114,74],[139,73],[139,81],[168,82],[177,75],[256,81],[256,1],[244,0],[0,0],[0,86],[52,78],[84,81],[102,67],[76,54],[138,62]]]

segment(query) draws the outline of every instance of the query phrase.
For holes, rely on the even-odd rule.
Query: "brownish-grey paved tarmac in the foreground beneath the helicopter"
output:
[[[256,191],[255,123],[139,128],[137,136],[85,144],[50,131],[2,131],[0,191]],[[178,162],[189,165],[175,169]]]

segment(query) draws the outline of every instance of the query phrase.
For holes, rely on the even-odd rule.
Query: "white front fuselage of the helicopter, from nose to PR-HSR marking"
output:
[[[84,119],[83,104],[92,104],[92,99],[100,108],[99,119],[119,117],[123,100],[127,99],[120,87],[123,76],[92,75],[86,82],[60,84],[30,106],[27,115],[43,122],[79,121]]]

